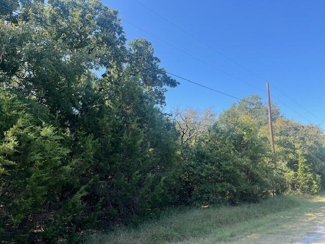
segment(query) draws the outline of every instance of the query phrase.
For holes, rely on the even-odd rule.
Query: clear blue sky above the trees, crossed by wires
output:
[[[183,28],[186,32],[213,46],[236,62],[267,78],[288,96],[325,121],[325,2],[324,1],[150,1],[138,0]],[[187,36],[159,18],[135,0],[104,0],[120,11],[120,17],[147,32],[203,59],[232,75],[265,90],[265,81],[230,62],[200,42]],[[237,97],[265,92],[204,65],[179,50],[122,22],[128,41],[144,37],[151,41],[161,67],[192,81]],[[179,80],[177,88],[167,93],[166,110],[174,106],[197,109],[213,108],[221,112],[236,100]],[[271,97],[311,120],[321,121],[300,108],[271,86]],[[307,124],[283,104],[282,113]],[[325,129],[325,123],[321,125]]]

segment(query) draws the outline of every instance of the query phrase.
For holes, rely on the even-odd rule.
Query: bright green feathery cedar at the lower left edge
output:
[[[12,119],[7,120],[10,129],[0,146],[0,234],[5,241],[34,242],[40,232],[55,242],[78,222],[86,192],[83,187],[69,188],[73,161],[63,136],[53,126],[35,121],[17,97],[6,95],[1,96],[1,110]],[[14,106],[6,106],[8,98]]]

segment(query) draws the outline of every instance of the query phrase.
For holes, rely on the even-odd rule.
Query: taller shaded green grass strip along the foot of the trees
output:
[[[309,199],[308,199],[309,198]],[[110,233],[98,233],[85,237],[84,244],[154,244],[177,242],[196,238],[236,226],[239,223],[263,218],[275,212],[299,207],[310,197],[301,195],[277,196],[259,203],[238,206],[169,209],[157,220],[149,220],[136,228],[119,227]]]

